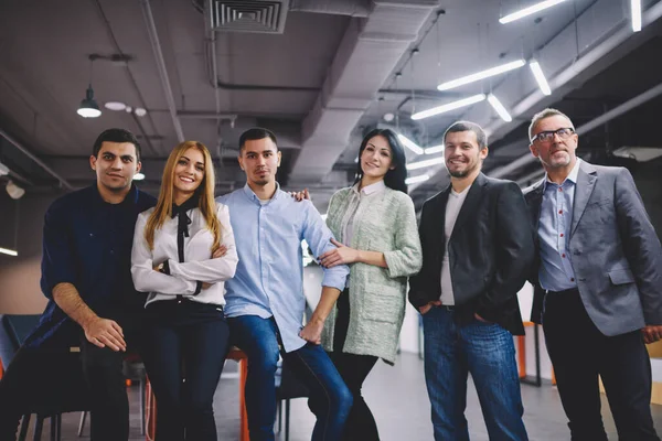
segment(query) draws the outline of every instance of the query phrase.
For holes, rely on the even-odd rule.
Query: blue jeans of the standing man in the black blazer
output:
[[[490,440],[527,440],[512,335],[495,323],[478,320],[460,326],[453,315],[445,306],[423,315],[435,440],[469,440],[465,418],[469,373]]]

